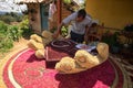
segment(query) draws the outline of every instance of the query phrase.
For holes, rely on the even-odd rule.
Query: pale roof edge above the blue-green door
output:
[[[41,3],[50,0],[14,0],[14,3]]]

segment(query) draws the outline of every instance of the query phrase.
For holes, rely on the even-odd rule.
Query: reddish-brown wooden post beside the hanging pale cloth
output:
[[[62,0],[58,0],[58,25],[61,23],[62,20]]]

